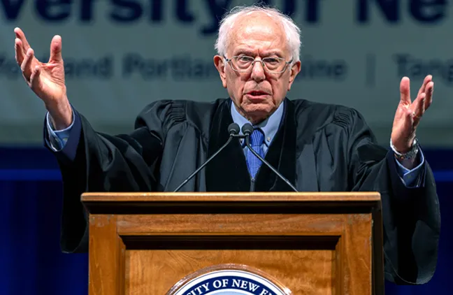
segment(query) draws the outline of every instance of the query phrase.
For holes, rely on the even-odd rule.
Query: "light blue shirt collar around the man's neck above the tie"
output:
[[[261,128],[261,130],[264,132],[264,143],[266,143],[267,146],[271,145],[275,134],[277,134],[278,127],[280,127],[280,122],[283,117],[284,103],[285,101],[282,101],[277,110],[275,110],[275,112],[263,122],[257,125],[252,124],[254,128]],[[242,129],[244,124],[250,123],[247,119],[245,119],[245,117],[243,117],[243,115],[240,115],[238,110],[236,110],[234,103],[231,103],[231,117],[233,117],[233,122],[239,125],[240,129]],[[242,134],[242,131],[240,131],[240,134]]]

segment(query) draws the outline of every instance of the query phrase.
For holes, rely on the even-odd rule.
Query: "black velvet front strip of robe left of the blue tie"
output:
[[[231,117],[230,100],[225,100],[217,108],[211,122],[206,158],[227,143],[228,127],[231,123],[233,123],[233,118]],[[249,190],[250,174],[240,141],[235,138],[206,166],[206,191],[248,192]]]

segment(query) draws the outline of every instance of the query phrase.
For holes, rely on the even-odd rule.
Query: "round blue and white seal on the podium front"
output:
[[[292,295],[264,272],[239,264],[202,268],[176,283],[166,295]]]

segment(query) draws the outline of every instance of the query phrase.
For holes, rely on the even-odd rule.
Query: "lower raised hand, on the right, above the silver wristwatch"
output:
[[[391,141],[398,152],[408,152],[412,147],[419,122],[433,101],[433,89],[433,77],[427,75],[417,97],[412,102],[410,99],[410,80],[407,77],[401,79],[401,99],[391,129]]]

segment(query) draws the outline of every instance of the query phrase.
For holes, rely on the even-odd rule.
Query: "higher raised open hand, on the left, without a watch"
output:
[[[56,129],[69,127],[72,109],[66,96],[62,37],[54,36],[50,43],[50,58],[47,63],[38,61],[24,32],[15,28],[15,59],[22,70],[27,85],[45,103]]]

